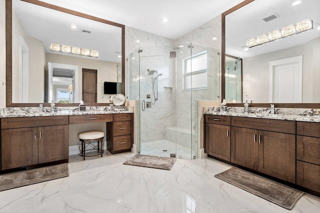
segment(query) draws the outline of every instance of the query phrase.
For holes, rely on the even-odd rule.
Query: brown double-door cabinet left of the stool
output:
[[[1,120],[1,170],[68,160],[68,116]]]

